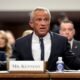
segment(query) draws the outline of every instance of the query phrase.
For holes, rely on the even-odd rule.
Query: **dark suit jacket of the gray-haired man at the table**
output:
[[[80,60],[70,52],[70,46],[66,38],[52,33],[51,34],[51,54],[48,60],[48,70],[56,70],[56,61],[62,56],[63,61],[72,69],[80,69]],[[34,60],[32,56],[32,34],[20,38],[16,41],[13,56],[17,60]],[[36,48],[37,49],[37,48]]]

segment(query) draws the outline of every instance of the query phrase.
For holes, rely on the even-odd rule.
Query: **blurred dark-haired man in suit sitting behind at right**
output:
[[[72,21],[63,20],[60,24],[60,35],[66,37],[70,43],[73,54],[80,57],[80,41],[74,39],[75,29]]]

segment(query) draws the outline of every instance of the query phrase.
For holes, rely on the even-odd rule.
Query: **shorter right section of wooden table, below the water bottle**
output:
[[[50,73],[53,80],[80,80],[80,72]]]

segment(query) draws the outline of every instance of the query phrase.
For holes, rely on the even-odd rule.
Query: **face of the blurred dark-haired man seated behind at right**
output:
[[[73,24],[62,23],[60,26],[60,35],[66,37],[68,41],[71,41],[75,35]]]

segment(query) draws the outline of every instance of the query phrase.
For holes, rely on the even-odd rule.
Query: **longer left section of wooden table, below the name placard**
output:
[[[11,72],[0,73],[0,80],[49,80],[48,73],[43,72]]]

